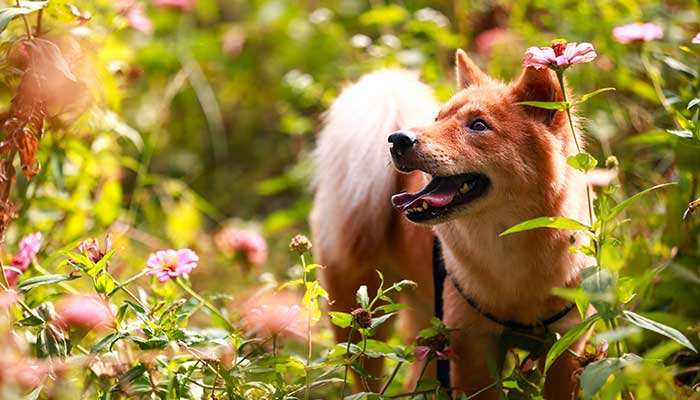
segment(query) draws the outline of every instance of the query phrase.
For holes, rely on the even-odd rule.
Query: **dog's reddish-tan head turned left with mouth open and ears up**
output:
[[[524,200],[551,201],[572,151],[566,116],[518,103],[563,100],[556,75],[525,68],[504,84],[462,50],[456,70],[460,90],[432,124],[389,136],[395,167],[430,178],[419,192],[394,195],[394,207],[413,222],[436,224],[504,205],[527,207]]]

